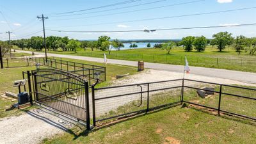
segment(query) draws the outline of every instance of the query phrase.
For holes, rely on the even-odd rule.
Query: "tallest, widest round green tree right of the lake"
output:
[[[234,38],[232,37],[232,33],[220,32],[212,35],[214,38],[211,42],[212,45],[217,45],[217,49],[221,52],[227,45],[231,45]]]

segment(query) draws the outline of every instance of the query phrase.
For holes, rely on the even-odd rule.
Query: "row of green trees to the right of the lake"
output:
[[[241,51],[248,52],[249,54],[255,54],[256,52],[256,37],[247,38],[246,36],[239,35],[235,38],[232,37],[232,33],[220,32],[212,35],[212,39],[209,40],[205,36],[186,36],[183,37],[180,42],[166,42],[163,44],[155,44],[155,48],[166,49],[170,54],[171,49],[174,46],[184,47],[184,51],[190,52],[195,49],[198,52],[205,51],[207,45],[216,45],[218,51],[223,51],[228,45],[233,46],[236,52],[239,54]]]

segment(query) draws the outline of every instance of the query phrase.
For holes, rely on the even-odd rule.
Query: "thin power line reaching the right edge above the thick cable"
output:
[[[239,8],[239,9],[233,9],[233,10],[216,11],[216,12],[193,13],[193,14],[188,14],[188,15],[176,15],[176,16],[170,16],[170,17],[156,17],[156,18],[150,18],[150,19],[126,20],[126,21],[118,21],[118,22],[104,22],[104,23],[84,24],[84,25],[75,25],[75,26],[57,26],[57,27],[54,26],[54,27],[48,27],[48,28],[96,26],[96,25],[105,25],[105,24],[118,24],[118,23],[124,23],[124,22],[140,22],[140,21],[146,21],[146,20],[172,19],[172,18],[177,18],[177,17],[190,17],[190,16],[196,16],[196,15],[209,15],[209,14],[214,14],[214,13],[236,12],[236,11],[241,11],[241,10],[250,10],[250,9],[254,9],[254,8],[256,8],[256,6],[249,7],[249,8]]]

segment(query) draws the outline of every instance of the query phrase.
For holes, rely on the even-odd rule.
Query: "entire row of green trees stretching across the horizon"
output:
[[[118,40],[110,40],[109,36],[99,36],[95,41],[79,41],[69,39],[67,36],[48,36],[46,38],[46,47],[48,51],[79,51],[81,49],[95,49],[100,51],[108,51],[109,54],[112,49],[120,51],[124,44]],[[12,40],[12,45],[17,45],[20,49],[34,49],[35,51],[42,51],[44,49],[44,38],[42,36],[32,36],[28,39]],[[198,52],[205,51],[207,45],[216,45],[218,51],[223,51],[228,45],[233,46],[239,54],[241,51],[248,52],[249,54],[256,53],[256,37],[247,38],[240,35],[232,37],[232,33],[220,32],[212,35],[212,39],[207,39],[205,36],[186,36],[180,41],[164,42],[162,44],[155,44],[155,48],[165,49],[168,54],[175,46],[184,47],[184,51],[190,52],[195,49]],[[138,45],[131,44],[131,48],[136,48]],[[150,43],[147,47],[151,47]]]

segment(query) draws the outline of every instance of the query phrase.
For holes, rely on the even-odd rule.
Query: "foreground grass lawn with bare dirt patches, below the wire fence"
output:
[[[73,131],[76,131],[73,129]],[[78,136],[77,136],[78,135]],[[165,109],[97,131],[59,134],[42,143],[255,143],[255,123],[193,108]]]

